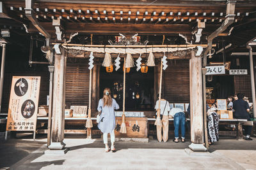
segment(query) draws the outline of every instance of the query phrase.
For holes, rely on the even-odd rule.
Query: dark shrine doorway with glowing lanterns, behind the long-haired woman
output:
[[[136,67],[132,67],[125,76],[125,110],[154,109],[154,67],[148,67],[147,73],[141,73],[141,71],[136,71]],[[107,73],[106,67],[100,67],[100,98],[103,96],[104,88],[108,87],[111,89],[112,97],[119,104],[120,110],[123,106],[123,80],[122,67],[118,71],[114,69],[112,73]]]

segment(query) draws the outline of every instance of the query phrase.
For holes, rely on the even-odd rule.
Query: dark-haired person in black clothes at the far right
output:
[[[244,101],[244,95],[243,94],[237,94],[238,100],[234,101],[233,104],[233,109],[234,111],[234,117],[236,118],[243,118],[243,119],[247,119],[250,121],[250,115],[249,115],[249,111],[250,111],[250,107],[248,102]],[[252,132],[252,126],[251,125],[243,125],[243,128],[245,130],[245,134],[246,134],[246,140],[252,140],[252,138],[250,138],[250,134]]]

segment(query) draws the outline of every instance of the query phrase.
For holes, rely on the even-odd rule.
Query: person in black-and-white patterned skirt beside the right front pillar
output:
[[[208,142],[211,145],[214,141],[219,141],[219,121],[220,118],[216,113],[218,109],[212,106],[207,111],[207,131]]]

